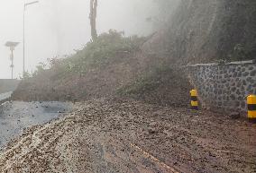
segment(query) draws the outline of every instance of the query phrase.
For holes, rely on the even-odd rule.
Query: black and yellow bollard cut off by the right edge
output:
[[[248,118],[252,123],[256,123],[256,95],[247,97]]]

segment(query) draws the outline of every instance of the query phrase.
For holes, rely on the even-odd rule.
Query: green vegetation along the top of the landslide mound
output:
[[[95,41],[87,43],[85,48],[76,50],[76,54],[66,58],[52,58],[49,60],[49,68],[54,71],[54,77],[62,77],[67,74],[86,74],[91,69],[108,65],[110,60],[120,55],[131,55],[139,51],[145,38],[137,36],[124,37],[122,32],[109,30],[98,36]],[[46,65],[37,66],[36,74],[40,74]]]

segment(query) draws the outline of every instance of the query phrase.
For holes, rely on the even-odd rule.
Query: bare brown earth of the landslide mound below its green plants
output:
[[[164,65],[164,58],[138,52],[112,58],[108,65],[87,74],[53,78],[49,70],[21,82],[14,100],[87,100],[125,97],[160,105],[187,107],[192,89],[181,70]]]

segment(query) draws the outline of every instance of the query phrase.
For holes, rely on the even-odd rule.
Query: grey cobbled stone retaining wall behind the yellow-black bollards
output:
[[[206,108],[245,112],[246,97],[256,94],[255,61],[187,65],[187,73]]]

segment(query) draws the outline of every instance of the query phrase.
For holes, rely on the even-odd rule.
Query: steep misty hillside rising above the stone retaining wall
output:
[[[256,57],[256,1],[181,0],[160,30],[144,46],[178,64]]]

